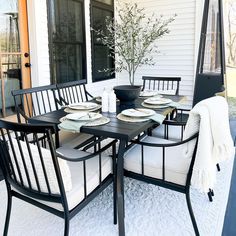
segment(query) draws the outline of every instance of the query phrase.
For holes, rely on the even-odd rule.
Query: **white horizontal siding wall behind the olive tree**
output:
[[[135,2],[135,1],[133,1]],[[158,42],[159,54],[153,54],[154,66],[142,66],[136,73],[137,83],[142,83],[143,75],[150,76],[180,76],[180,94],[188,97],[188,104],[192,103],[196,54],[198,48],[199,28],[201,18],[196,22],[199,7],[196,0],[137,0],[139,6],[144,7],[147,15],[153,12],[169,18],[177,14],[176,19],[169,25],[170,34]],[[126,74],[120,75],[125,82]]]

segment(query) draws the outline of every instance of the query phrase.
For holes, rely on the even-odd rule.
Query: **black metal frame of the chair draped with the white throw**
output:
[[[180,185],[180,184],[175,184],[175,183],[171,183],[171,182],[166,181],[165,180],[165,150],[166,150],[166,148],[179,146],[179,145],[182,145],[184,143],[187,143],[187,142],[190,142],[193,140],[196,140],[196,143],[195,143],[192,159],[191,159],[190,166],[189,166],[188,173],[187,173],[186,184]],[[135,173],[132,171],[125,170],[124,175],[127,177],[130,177],[130,178],[134,178],[134,179],[137,179],[140,181],[144,181],[144,182],[158,185],[158,186],[161,186],[164,188],[168,188],[168,189],[180,192],[180,193],[184,193],[186,195],[188,211],[190,214],[190,218],[192,221],[195,235],[197,235],[197,236],[200,235],[198,227],[197,227],[197,223],[196,223],[196,220],[194,217],[193,209],[191,206],[191,201],[190,201],[190,182],[191,182],[191,178],[192,178],[193,166],[194,166],[196,152],[197,152],[198,133],[196,133],[195,135],[192,135],[188,139],[185,139],[181,142],[171,143],[171,144],[148,143],[145,141],[140,141],[139,139],[133,140],[132,142],[135,144],[141,145],[141,170],[142,170],[142,173],[138,174],[138,173]],[[144,146],[162,148],[162,154],[163,154],[162,155],[162,163],[163,163],[162,164],[162,179],[149,177],[144,174]],[[119,172],[118,172],[118,175],[119,175]]]

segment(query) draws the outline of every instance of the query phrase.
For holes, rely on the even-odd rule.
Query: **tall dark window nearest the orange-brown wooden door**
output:
[[[48,0],[51,82],[86,80],[83,0]]]

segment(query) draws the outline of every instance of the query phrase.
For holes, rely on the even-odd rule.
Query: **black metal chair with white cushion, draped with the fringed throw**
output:
[[[183,148],[191,142],[195,142],[192,158],[186,159]],[[177,143],[151,136],[133,143],[138,145],[128,150],[124,157],[125,176],[184,193],[195,234],[199,235],[189,192],[198,133]]]

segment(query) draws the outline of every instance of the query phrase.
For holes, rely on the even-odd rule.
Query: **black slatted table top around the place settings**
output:
[[[185,97],[184,96],[164,96],[171,98],[174,102],[180,102]],[[139,98],[135,101],[135,105],[133,107],[140,108],[142,107],[140,104],[143,102],[144,98]],[[120,113],[122,109],[126,109],[127,107],[120,107],[119,104],[117,105],[117,114]],[[174,108],[168,107],[163,109],[153,109],[157,113],[162,115],[169,114]],[[59,119],[65,116],[66,113],[64,109],[60,109],[57,111],[49,112],[40,116],[35,116],[29,119],[30,123],[51,123],[51,124],[59,124]],[[137,123],[128,123],[125,121],[118,120],[116,118],[116,114],[114,113],[102,113],[104,116],[110,118],[110,122],[105,125],[101,126],[82,126],[81,132],[87,134],[93,134],[97,136],[115,138],[125,141],[130,141],[143,131],[146,131],[148,128],[152,127],[155,122],[153,121],[145,121],[145,122],[137,122]]]

